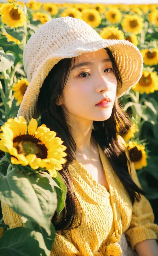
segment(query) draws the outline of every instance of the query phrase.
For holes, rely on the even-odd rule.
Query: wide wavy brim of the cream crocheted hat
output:
[[[78,45],[77,45],[78,43]],[[72,45],[72,44],[71,44]],[[101,39],[91,42],[75,41],[75,47],[68,48],[63,45],[59,50],[50,54],[37,68],[25,92],[18,115],[25,117],[27,122],[31,118],[37,118],[38,110],[36,104],[40,88],[51,69],[63,58],[71,58],[84,52],[93,52],[108,47],[115,59],[122,78],[122,87],[117,92],[117,97],[128,93],[142,76],[143,57],[140,50],[131,42],[120,39]]]

